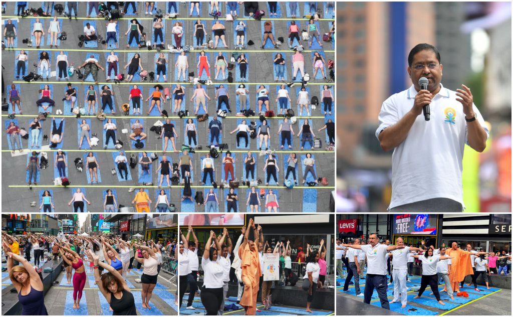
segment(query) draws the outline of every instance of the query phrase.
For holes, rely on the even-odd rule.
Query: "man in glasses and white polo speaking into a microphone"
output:
[[[483,152],[489,136],[470,89],[442,86],[437,48],[418,44],[408,55],[412,85],[385,100],[376,137],[392,155],[391,212],[463,211],[463,150],[465,143]],[[419,79],[427,78],[427,90]],[[426,121],[423,106],[430,105]]]

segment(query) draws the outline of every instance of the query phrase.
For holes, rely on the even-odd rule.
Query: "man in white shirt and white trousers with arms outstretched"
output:
[[[396,245],[404,247],[404,249],[394,250],[388,255],[392,257],[392,278],[393,278],[393,300],[390,302],[396,303],[399,301],[399,293],[401,293],[401,307],[406,307],[407,303],[407,292],[408,286],[406,286],[406,279],[408,274],[408,268],[406,263],[410,257],[410,250],[421,251],[419,248],[406,247],[402,237],[396,239]],[[422,240],[424,245],[424,240]]]

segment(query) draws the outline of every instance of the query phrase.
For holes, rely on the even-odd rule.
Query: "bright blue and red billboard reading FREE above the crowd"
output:
[[[394,215],[394,234],[437,234],[437,216],[428,214]]]

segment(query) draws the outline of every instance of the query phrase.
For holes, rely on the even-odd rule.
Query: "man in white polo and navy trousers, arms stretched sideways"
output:
[[[386,256],[387,253],[393,250],[404,249],[399,246],[385,246],[379,243],[378,233],[372,232],[369,234],[368,245],[347,245],[342,244],[344,247],[352,249],[360,249],[367,256],[367,277],[365,279],[365,290],[363,291],[365,304],[370,304],[372,292],[374,288],[380,297],[381,307],[390,309],[387,298],[387,278],[386,278]]]

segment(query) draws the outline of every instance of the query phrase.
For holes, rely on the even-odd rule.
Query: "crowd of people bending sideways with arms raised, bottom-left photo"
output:
[[[107,235],[9,235],[2,231],[7,271],[22,304],[22,315],[47,315],[41,269],[47,262],[63,260],[67,284],[73,286],[73,309],[81,308],[87,277],[102,292],[114,315],[136,315],[134,296],[126,283],[131,270],[141,272],[142,307],[150,300],[163,263],[174,258],[176,244],[170,241],[124,241]],[[33,255],[33,264],[32,264]],[[52,266],[50,266],[52,267]],[[52,267],[53,268],[53,267]]]

